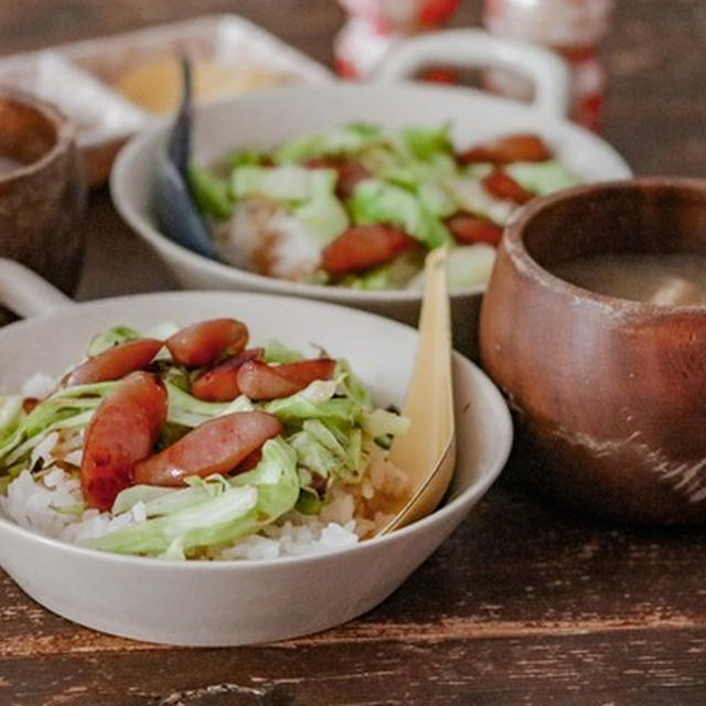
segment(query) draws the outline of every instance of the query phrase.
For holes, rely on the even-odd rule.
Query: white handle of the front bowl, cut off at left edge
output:
[[[0,304],[20,317],[38,317],[73,303],[24,265],[0,257]]]

